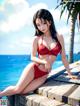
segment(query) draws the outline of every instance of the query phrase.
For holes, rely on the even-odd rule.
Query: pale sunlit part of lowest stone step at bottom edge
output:
[[[27,104],[26,106],[70,106],[65,103],[52,100],[50,98],[47,98],[45,96],[32,94],[29,96],[26,96]]]

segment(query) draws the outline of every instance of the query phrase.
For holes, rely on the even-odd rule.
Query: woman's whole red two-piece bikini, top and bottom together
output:
[[[43,38],[42,38],[42,41],[43,41]],[[38,55],[54,55],[54,56],[57,56],[58,53],[61,52],[61,45],[58,42],[54,48],[49,50],[45,45],[43,45],[43,43],[41,43],[38,46],[37,51],[38,51]],[[36,64],[34,65],[34,79],[42,77],[46,74],[48,74],[48,72],[45,72],[44,70],[39,69]]]

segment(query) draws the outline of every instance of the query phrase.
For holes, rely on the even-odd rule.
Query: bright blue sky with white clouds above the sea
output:
[[[65,50],[69,51],[70,22],[67,13],[60,19],[60,8],[55,10],[57,0],[0,0],[0,54],[30,54],[35,29],[34,13],[41,8],[53,15],[56,29],[62,34]],[[76,25],[74,52],[80,52],[80,32]]]

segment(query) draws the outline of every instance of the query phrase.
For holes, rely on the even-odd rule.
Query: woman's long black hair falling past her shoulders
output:
[[[53,39],[58,41],[57,36],[56,36],[57,35],[57,31],[56,31],[56,28],[55,28],[55,25],[54,25],[54,20],[53,20],[52,14],[46,9],[40,9],[34,14],[34,16],[33,16],[33,24],[34,24],[34,27],[35,27],[35,36],[41,36],[41,35],[43,35],[43,32],[41,32],[37,28],[37,25],[36,25],[36,19],[37,18],[43,19],[44,21],[47,20],[47,21],[49,21],[51,23],[51,25],[50,25],[51,36],[52,36]]]

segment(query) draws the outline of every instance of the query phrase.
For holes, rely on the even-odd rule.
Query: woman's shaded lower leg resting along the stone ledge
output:
[[[30,84],[26,86],[26,88],[21,92],[21,94],[26,94],[37,89],[46,81],[46,79],[47,79],[47,75],[44,75],[38,79],[31,81]]]

